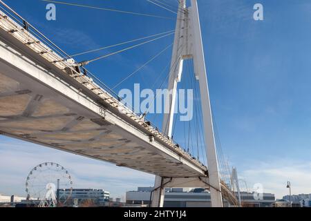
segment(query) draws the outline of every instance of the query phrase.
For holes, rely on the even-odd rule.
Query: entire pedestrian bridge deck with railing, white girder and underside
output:
[[[0,133],[159,175],[167,186],[213,188],[205,165],[83,71],[0,12]],[[237,203],[224,182],[218,191]]]

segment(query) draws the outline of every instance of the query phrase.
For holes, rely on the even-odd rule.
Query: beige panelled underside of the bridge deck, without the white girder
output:
[[[16,71],[19,81],[7,76],[10,71],[3,75],[6,68],[0,66],[0,130],[5,134],[164,177],[198,175]]]

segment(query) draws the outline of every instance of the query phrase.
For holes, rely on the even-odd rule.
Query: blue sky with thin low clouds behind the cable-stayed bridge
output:
[[[66,0],[90,6],[148,12],[174,17],[144,0]],[[176,1],[171,3],[176,5]],[[27,3],[26,3],[27,2]],[[30,23],[69,54],[173,30],[175,21],[115,12],[57,7],[57,20],[47,21],[46,2],[7,0]],[[262,3],[264,21],[254,21],[253,6]],[[223,152],[249,189],[262,183],[277,197],[311,193],[311,3],[308,0],[198,0],[211,105]],[[88,66],[114,86],[173,41],[146,46]],[[111,52],[77,57],[84,60]],[[116,90],[140,83],[150,87],[167,65],[171,50]],[[153,117],[151,117],[153,119]],[[155,123],[160,125],[160,117]],[[182,143],[182,132],[176,140]],[[0,137],[0,193],[23,195],[28,171],[42,161],[55,161],[71,171],[79,187],[104,188],[122,196],[135,186],[153,185],[153,175],[89,160],[50,148]],[[87,173],[88,171],[93,173]],[[115,171],[113,175],[109,171]]]

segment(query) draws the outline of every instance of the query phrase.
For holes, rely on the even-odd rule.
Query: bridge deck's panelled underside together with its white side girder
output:
[[[2,43],[0,50],[0,131],[3,135],[162,177],[205,175],[205,171],[191,166],[190,162],[187,164],[177,154],[155,148],[147,135],[142,135],[145,139],[137,137],[135,133],[140,133],[131,126],[120,126],[121,122],[113,122],[109,116],[104,118],[91,111],[86,106],[93,102],[79,91],[73,100],[54,90],[52,87],[56,88],[57,84],[64,90],[70,88],[6,44]],[[12,65],[14,62],[10,59],[20,67]],[[33,71],[37,79],[20,68]],[[84,101],[84,105],[80,101]]]

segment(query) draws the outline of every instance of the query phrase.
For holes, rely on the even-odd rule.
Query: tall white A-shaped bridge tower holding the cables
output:
[[[162,131],[169,137],[172,135],[173,115],[176,104],[177,84],[182,75],[182,62],[185,59],[194,60],[194,73],[199,81],[202,117],[204,124],[205,149],[207,155],[207,166],[209,169],[209,186],[211,193],[211,206],[222,207],[223,198],[220,191],[220,177],[218,173],[218,162],[216,155],[216,145],[214,140],[214,129],[211,117],[211,105],[209,102],[209,89],[207,84],[207,73],[205,58],[202,46],[202,36],[200,29],[200,19],[198,14],[198,4],[196,0],[191,0],[191,6],[186,6],[186,0],[179,0],[178,15],[176,21],[176,32],[173,44],[173,54],[171,59],[171,72],[169,74],[168,89],[171,96],[165,108],[169,108],[168,114],[164,114]],[[151,206],[162,207],[164,202],[164,182],[163,177],[156,176],[155,189],[153,190],[153,200]],[[189,184],[191,185],[191,184]],[[198,186],[185,186],[198,187]]]

